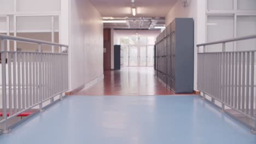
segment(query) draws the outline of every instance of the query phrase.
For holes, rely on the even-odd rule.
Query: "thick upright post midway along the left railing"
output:
[[[42,95],[42,44],[38,44],[39,55],[39,110],[43,111],[43,95]]]

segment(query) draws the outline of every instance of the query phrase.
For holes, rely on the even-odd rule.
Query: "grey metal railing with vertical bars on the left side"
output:
[[[1,91],[3,132],[9,131],[8,121],[32,108],[43,111],[43,104],[54,101],[68,90],[68,54],[62,51],[67,45],[48,41],[12,37],[0,34],[1,40]],[[37,44],[38,52],[6,51],[5,41]],[[59,53],[42,52],[42,45],[57,46]],[[35,51],[36,51],[35,49]],[[5,61],[8,59],[8,61]]]

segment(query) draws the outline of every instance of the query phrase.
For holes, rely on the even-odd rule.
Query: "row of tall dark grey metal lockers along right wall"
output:
[[[175,93],[193,93],[194,21],[176,18],[156,38],[159,79]]]

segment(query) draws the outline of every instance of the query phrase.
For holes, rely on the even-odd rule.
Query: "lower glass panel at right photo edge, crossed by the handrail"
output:
[[[256,16],[237,16],[237,37],[256,34]],[[256,40],[242,40],[236,42],[236,50],[255,50]]]

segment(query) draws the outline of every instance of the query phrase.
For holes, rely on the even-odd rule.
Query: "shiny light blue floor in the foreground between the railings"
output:
[[[199,97],[68,97],[0,136],[0,143],[256,143]]]

